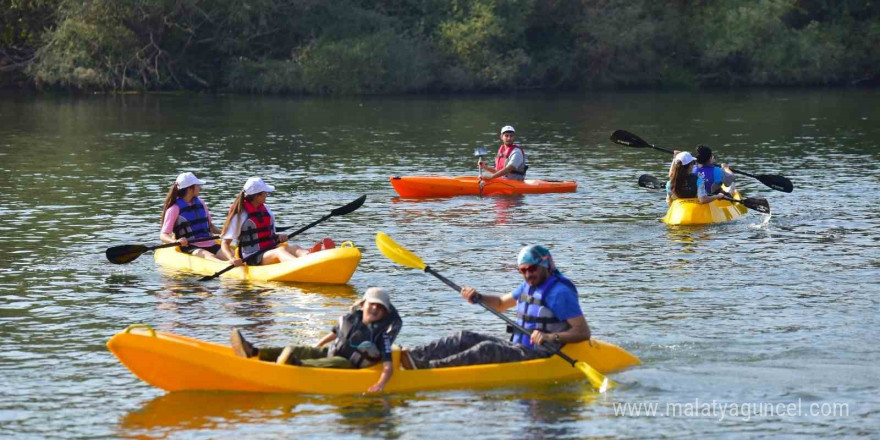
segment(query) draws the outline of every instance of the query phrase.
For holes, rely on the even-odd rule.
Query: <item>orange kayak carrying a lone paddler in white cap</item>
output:
[[[400,197],[453,197],[480,195],[480,183],[476,176],[394,176],[391,186]],[[577,182],[559,180],[523,181],[492,179],[483,181],[483,195],[543,194],[575,192]]]

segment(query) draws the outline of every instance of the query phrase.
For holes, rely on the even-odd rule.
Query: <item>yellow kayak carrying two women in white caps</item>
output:
[[[179,247],[157,249],[154,258],[160,266],[199,275],[211,275],[229,266],[226,262],[207,260],[181,252]],[[250,281],[345,284],[357,270],[360,261],[361,251],[347,241],[338,248],[315,252],[293,261],[237,267],[221,276]]]

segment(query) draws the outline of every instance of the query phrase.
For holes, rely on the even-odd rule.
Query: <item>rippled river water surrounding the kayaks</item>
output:
[[[0,437],[877,438],[878,98],[3,96]],[[395,197],[389,176],[475,174],[474,148],[494,151],[506,124],[531,177],[576,180],[578,191]],[[709,145],[720,162],[784,175],[795,190],[740,176],[772,217],[670,228],[659,222],[662,195],[636,185],[640,174],[663,176],[669,157],[609,142],[615,129],[670,149]],[[159,270],[150,254],[109,264],[110,246],[158,243],[160,206],[182,171],[208,182],[215,218],[253,175],[276,186],[268,203],[284,226],[367,194],[355,213],[294,240],[352,240],[358,271],[322,287],[203,283]],[[404,346],[460,329],[504,335],[497,318],[385,259],[379,230],[484,292],[516,286],[521,246],[548,246],[579,286],[595,337],[643,365],[612,375],[622,386],[602,396],[587,382],[345,398],[166,394],[105,347],[134,323],[219,343],[233,327],[260,344],[311,343],[374,285],[392,291]],[[621,415],[624,404],[658,410]]]

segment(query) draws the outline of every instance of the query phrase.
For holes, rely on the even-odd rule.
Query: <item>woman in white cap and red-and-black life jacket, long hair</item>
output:
[[[294,245],[278,246],[287,241],[287,234],[275,234],[275,216],[266,206],[266,196],[275,190],[259,177],[251,177],[244,189],[229,207],[226,224],[223,225],[221,247],[226,257],[235,266],[244,264],[243,258],[264,250],[261,255],[249,260],[248,264],[274,264],[290,261],[308,255],[309,251]],[[238,241],[238,252],[234,253],[230,244]]]

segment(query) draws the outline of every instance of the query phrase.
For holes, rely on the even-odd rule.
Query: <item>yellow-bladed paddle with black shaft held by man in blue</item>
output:
[[[386,257],[388,257],[389,260],[394,261],[395,263],[398,263],[398,264],[406,266],[406,267],[412,267],[414,269],[421,269],[431,275],[434,275],[438,280],[444,282],[447,286],[451,287],[456,292],[461,292],[461,287],[459,287],[457,284],[453,283],[452,281],[450,281],[449,279],[447,279],[443,275],[440,275],[434,269],[431,269],[431,267],[426,265],[422,261],[422,259],[419,258],[418,255],[412,253],[408,249],[397,244],[394,240],[391,239],[391,237],[386,235],[384,232],[379,232],[376,234],[376,247],[378,247],[379,251],[381,251],[382,254],[384,254]],[[483,304],[479,300],[476,303],[479,304],[484,309],[491,312],[493,315],[503,319],[504,322],[506,322],[511,327],[515,328],[517,331],[520,331],[524,334],[531,334],[532,333],[528,329],[517,324],[516,321],[514,321],[513,319],[510,319],[507,315],[487,306],[486,304]],[[586,362],[577,361],[575,359],[572,359],[571,357],[569,357],[565,353],[559,351],[559,348],[557,348],[553,345],[544,344],[544,347],[549,349],[550,351],[552,351],[554,354],[558,355],[559,357],[565,359],[568,363],[571,364],[572,367],[575,367],[578,370],[581,370],[581,372],[583,372],[584,375],[587,376],[587,379],[590,380],[590,384],[593,385],[594,388],[598,389],[599,392],[604,393],[605,390],[616,386],[616,383],[614,381],[608,379],[607,377],[602,375],[602,373],[596,371],[596,369],[591,367]]]

